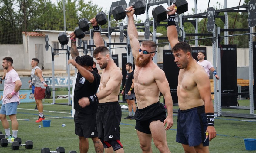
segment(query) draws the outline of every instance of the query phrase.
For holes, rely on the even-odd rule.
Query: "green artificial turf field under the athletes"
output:
[[[56,99],[56,103],[67,103],[67,99]],[[17,119],[19,122],[18,137],[22,139],[22,144],[25,144],[26,140],[33,141],[33,148],[26,149],[25,146],[19,148],[19,150],[12,150],[11,144],[7,147],[0,146],[1,153],[9,152],[41,152],[41,148],[48,147],[51,151],[55,151],[56,147],[62,146],[66,152],[75,150],[79,152],[79,139],[74,132],[74,119],[71,117],[71,106],[68,105],[51,105],[51,99],[45,99],[44,116],[46,120],[51,120],[50,127],[43,127],[42,122],[35,123],[38,118],[38,111],[34,110],[35,103],[21,103],[17,109]],[[248,105],[248,100],[244,103]],[[124,103],[120,103],[123,105]],[[243,106],[243,101],[239,101],[239,104]],[[174,106],[173,109],[178,109],[178,106]],[[248,110],[236,110],[236,109],[223,109],[222,111],[238,111],[240,113],[249,113]],[[255,110],[254,110],[255,111]],[[121,143],[125,152],[136,153],[142,152],[139,145],[139,140],[135,130],[135,120],[123,119],[128,115],[128,110],[122,110],[122,120],[120,124]],[[8,117],[7,117],[8,118]],[[9,118],[8,118],[9,119]],[[244,153],[244,152],[256,152],[245,150],[244,138],[256,138],[256,120],[248,120],[244,118],[231,118],[231,117],[216,117],[215,128],[217,131],[217,137],[210,142],[210,152],[212,153]],[[182,145],[175,142],[176,129],[177,129],[177,114],[173,114],[173,127],[167,130],[167,143],[169,149],[173,153],[184,152]],[[11,123],[11,121],[9,121]],[[62,124],[66,124],[66,127],[62,127]],[[42,125],[42,128],[39,128]],[[10,126],[11,130],[11,126]],[[0,131],[4,132],[2,124],[0,124]],[[12,133],[12,131],[11,131]],[[159,152],[154,146],[152,141],[153,152]],[[89,139],[89,153],[95,152],[93,142]]]

